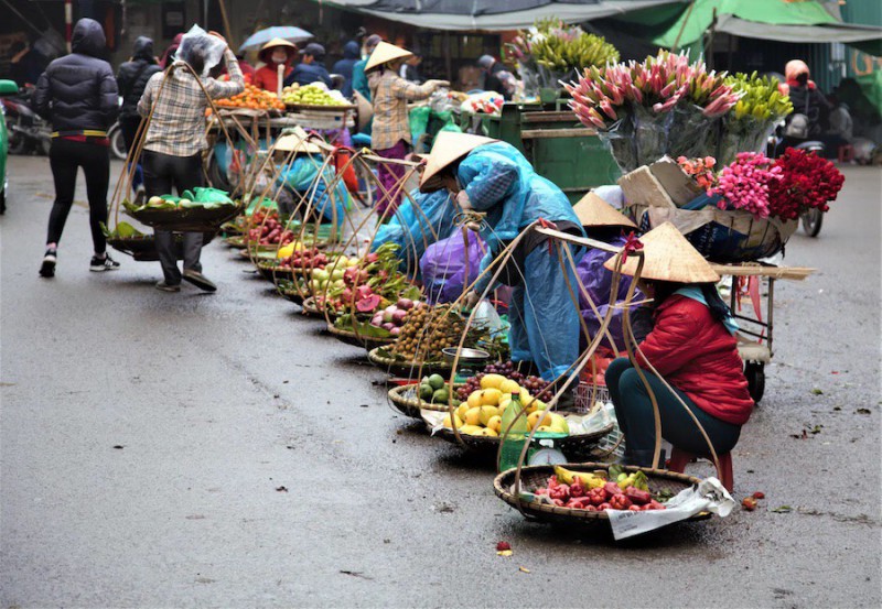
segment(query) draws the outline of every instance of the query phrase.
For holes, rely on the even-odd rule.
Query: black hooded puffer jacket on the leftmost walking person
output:
[[[117,118],[117,81],[110,64],[98,57],[106,40],[101,25],[80,19],[71,41],[73,53],[52,62],[36,83],[36,111],[54,131],[106,131]]]

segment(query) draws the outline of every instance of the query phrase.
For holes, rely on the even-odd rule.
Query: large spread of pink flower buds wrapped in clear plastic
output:
[[[595,127],[623,172],[670,156],[706,156],[717,146],[719,118],[741,94],[685,53],[659,51],[644,62],[589,67],[566,85],[570,108]]]

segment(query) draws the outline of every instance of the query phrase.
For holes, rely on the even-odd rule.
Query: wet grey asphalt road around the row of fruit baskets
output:
[[[220,243],[217,294],[160,293],[157,263],[88,272],[77,205],[41,280],[47,161],[10,173],[0,607],[882,602],[879,170],[847,168],[820,237],[787,246],[819,272],[778,283],[766,398],[734,452],[734,494],[761,508],[620,544],[526,522]]]

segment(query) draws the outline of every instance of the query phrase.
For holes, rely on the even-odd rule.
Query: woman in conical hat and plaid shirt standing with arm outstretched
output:
[[[428,99],[437,88],[450,85],[445,80],[427,80],[424,85],[415,85],[398,76],[401,64],[411,55],[410,51],[380,42],[365,66],[374,102],[372,145],[385,159],[404,160],[410,152],[407,102]],[[383,214],[389,207],[390,213],[395,211],[401,197],[401,185],[396,188],[396,183],[405,175],[405,166],[383,163],[377,173],[384,188],[377,202],[377,211]]]

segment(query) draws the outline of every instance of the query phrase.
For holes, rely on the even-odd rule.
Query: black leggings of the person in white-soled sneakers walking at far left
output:
[[[110,155],[106,145],[74,142],[63,138],[52,140],[49,164],[55,181],[55,203],[49,215],[46,243],[62,240],[64,224],[74,204],[76,173],[83,167],[86,175],[86,194],[89,199],[89,228],[95,253],[104,253],[107,240],[101,222],[107,222],[107,185],[110,182]]]

